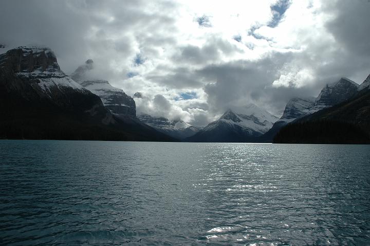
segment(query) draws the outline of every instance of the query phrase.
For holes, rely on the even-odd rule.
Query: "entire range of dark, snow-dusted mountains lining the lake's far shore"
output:
[[[91,71],[94,61],[88,59],[67,76],[54,53],[42,46],[22,46],[0,55],[0,137],[367,143],[370,136],[370,75],[361,84],[341,78],[324,86],[316,98],[292,98],[280,118],[248,104],[200,128],[179,118],[137,116],[131,96],[103,78],[91,77]]]

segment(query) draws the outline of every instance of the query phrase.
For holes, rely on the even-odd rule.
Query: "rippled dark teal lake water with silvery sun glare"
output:
[[[370,146],[0,141],[1,245],[369,245]]]

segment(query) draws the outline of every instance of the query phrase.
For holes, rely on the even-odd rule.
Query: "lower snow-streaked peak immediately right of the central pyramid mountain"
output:
[[[261,142],[271,142],[272,138],[279,130],[292,122],[293,120],[306,115],[315,105],[315,98],[293,98],[286,104],[284,113],[278,121],[276,121],[270,130],[260,137]]]

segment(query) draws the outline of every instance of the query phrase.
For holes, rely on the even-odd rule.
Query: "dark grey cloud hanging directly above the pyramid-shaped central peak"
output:
[[[202,69],[199,73],[210,81],[204,89],[211,109],[222,113],[234,106],[270,101],[265,98],[266,87],[271,87],[272,82],[278,78],[278,70],[291,56],[292,54],[274,53],[257,62],[235,61]],[[274,94],[269,97],[274,98]],[[285,100],[280,98],[278,103],[284,104]]]

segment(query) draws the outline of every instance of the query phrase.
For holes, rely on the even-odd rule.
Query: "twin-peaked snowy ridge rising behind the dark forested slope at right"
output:
[[[260,137],[261,142],[271,142],[276,133],[290,122],[354,97],[359,87],[354,81],[341,78],[337,82],[327,84],[314,101],[310,98],[291,99],[285,107],[283,116],[275,122],[267,133]]]

